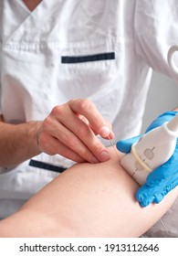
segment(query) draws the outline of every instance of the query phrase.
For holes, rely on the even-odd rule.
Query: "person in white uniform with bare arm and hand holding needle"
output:
[[[176,79],[167,52],[177,9],[177,0],[1,1],[0,218],[75,162],[109,160],[101,137],[140,133],[152,69]]]

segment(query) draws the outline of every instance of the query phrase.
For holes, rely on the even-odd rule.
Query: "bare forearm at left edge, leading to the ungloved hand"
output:
[[[0,121],[0,166],[17,165],[40,153],[37,122],[9,124]]]

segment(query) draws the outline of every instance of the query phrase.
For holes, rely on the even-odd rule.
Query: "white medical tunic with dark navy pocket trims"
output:
[[[38,121],[87,98],[112,123],[115,142],[140,133],[152,69],[173,77],[177,10],[177,0],[43,0],[30,12],[21,0],[1,0],[0,114],[6,123]],[[41,154],[1,168],[0,217],[72,164]]]

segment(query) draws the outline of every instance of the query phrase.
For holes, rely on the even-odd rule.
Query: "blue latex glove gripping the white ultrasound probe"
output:
[[[168,122],[177,112],[164,112],[148,127],[145,133],[151,131],[162,123]],[[130,153],[131,144],[138,142],[140,136],[128,140],[122,140],[117,143],[117,148],[122,153]],[[156,168],[147,176],[146,183],[136,192],[136,198],[141,207],[146,207],[152,202],[159,203],[174,187],[178,185],[178,140],[172,157],[163,165]]]

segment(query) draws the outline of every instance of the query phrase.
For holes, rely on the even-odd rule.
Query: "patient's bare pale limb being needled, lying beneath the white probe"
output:
[[[110,161],[72,166],[1,220],[0,237],[133,238],[150,229],[172,206],[178,189],[160,204],[141,208],[134,197],[139,186],[109,150]]]

